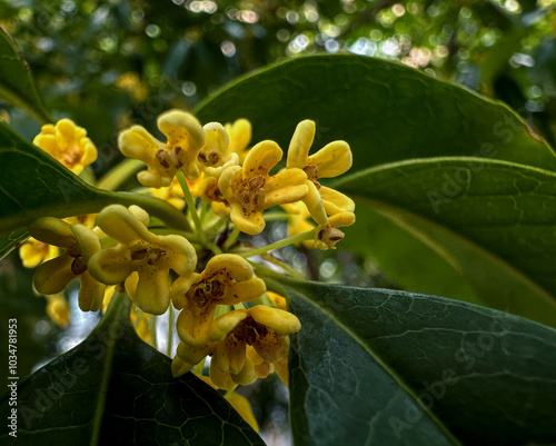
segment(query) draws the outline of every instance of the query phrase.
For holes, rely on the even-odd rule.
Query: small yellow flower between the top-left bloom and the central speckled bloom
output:
[[[224,169],[237,166],[239,157],[228,151],[228,133],[219,122],[209,122],[205,130],[205,146],[199,150],[197,161],[201,170],[210,177],[219,177]]]

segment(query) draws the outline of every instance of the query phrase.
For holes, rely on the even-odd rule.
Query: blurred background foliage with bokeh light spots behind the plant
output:
[[[395,59],[500,99],[556,146],[555,6],[553,0],[3,0],[0,26],[31,66],[47,108],[88,129],[99,149],[93,170],[100,175],[120,159],[116,141],[123,127],[138,122],[157,132],[156,118],[169,108],[191,109],[226,82],[282,58],[324,52]],[[0,101],[0,117],[29,140],[40,130],[7,102]],[[265,241],[285,236],[284,227],[272,227]],[[373,264],[349,252],[291,248],[282,255],[311,279],[393,287]],[[21,377],[77,344],[97,321],[76,310],[73,293],[69,327],[56,327],[44,315],[44,300],[32,295],[30,277],[17,252],[0,262],[1,331],[8,317],[20,321]],[[279,434],[287,423],[287,395],[277,380],[246,392],[267,439],[287,443]],[[269,394],[274,398],[265,403]]]

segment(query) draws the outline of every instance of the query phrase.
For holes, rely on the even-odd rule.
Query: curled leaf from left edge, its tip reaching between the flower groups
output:
[[[20,229],[39,217],[95,214],[116,202],[141,206],[173,228],[189,229],[186,217],[166,201],[140,194],[111,192],[92,187],[2,122],[0,166],[2,254],[7,254],[23,238]]]

